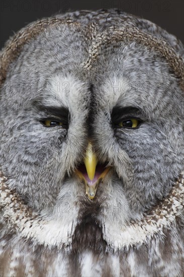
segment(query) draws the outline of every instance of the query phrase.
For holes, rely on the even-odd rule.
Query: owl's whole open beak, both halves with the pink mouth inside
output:
[[[91,142],[88,143],[83,163],[76,170],[76,174],[85,183],[85,194],[87,194],[89,199],[93,199],[99,183],[109,172],[110,167],[106,168],[105,165],[98,164]]]

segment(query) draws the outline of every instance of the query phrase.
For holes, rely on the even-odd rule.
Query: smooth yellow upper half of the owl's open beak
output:
[[[84,158],[84,165],[90,180],[94,179],[97,164],[98,164],[97,156],[93,151],[92,144],[89,142],[86,149],[85,158]]]

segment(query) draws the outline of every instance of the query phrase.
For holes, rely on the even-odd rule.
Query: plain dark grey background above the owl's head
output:
[[[148,19],[184,41],[183,0],[2,0],[1,48],[26,24],[75,10],[119,9]]]

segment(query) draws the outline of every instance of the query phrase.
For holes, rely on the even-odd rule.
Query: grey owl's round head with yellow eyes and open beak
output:
[[[113,236],[141,219],[183,169],[182,50],[153,23],[116,11],[22,29],[2,51],[9,187],[75,237]]]

